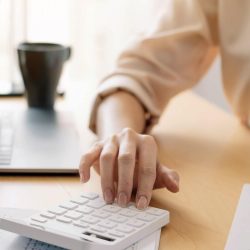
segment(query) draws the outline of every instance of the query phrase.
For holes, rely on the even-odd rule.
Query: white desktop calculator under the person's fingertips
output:
[[[72,250],[122,250],[169,223],[169,212],[134,203],[121,208],[83,193],[24,219],[2,218],[0,228]]]

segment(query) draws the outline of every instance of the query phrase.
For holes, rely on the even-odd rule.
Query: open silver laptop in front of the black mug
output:
[[[70,112],[0,111],[0,172],[77,173],[80,140]]]

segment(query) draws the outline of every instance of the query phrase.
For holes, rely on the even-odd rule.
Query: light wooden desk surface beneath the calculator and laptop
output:
[[[154,130],[161,160],[179,171],[181,191],[154,191],[168,209],[161,250],[224,248],[243,183],[250,182],[250,131],[237,119],[187,92],[176,97]],[[1,176],[0,206],[42,209],[82,190],[100,192],[99,177]]]

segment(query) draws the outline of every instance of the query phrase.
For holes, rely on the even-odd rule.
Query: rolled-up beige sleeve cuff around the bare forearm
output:
[[[143,105],[146,111],[145,132],[149,131],[153,125],[158,122],[161,112],[157,105],[153,102],[149,92],[133,78],[126,76],[113,76],[99,85],[97,93],[94,96],[89,120],[89,128],[94,133],[96,133],[96,115],[98,106],[105,97],[121,90],[134,95]]]

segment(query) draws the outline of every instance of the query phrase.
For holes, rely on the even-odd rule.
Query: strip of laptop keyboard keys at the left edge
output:
[[[10,165],[13,149],[13,126],[10,113],[0,114],[0,165]]]

